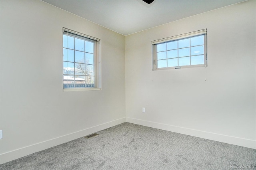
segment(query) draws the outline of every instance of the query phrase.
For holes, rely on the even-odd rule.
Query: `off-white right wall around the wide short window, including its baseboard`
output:
[[[249,0],[126,36],[126,121],[256,148],[255,9]],[[151,71],[152,40],[205,28],[208,67]]]

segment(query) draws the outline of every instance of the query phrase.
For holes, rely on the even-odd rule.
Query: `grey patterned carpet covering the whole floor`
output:
[[[252,148],[132,123],[97,133],[92,138],[78,138],[1,164],[0,169],[228,170],[239,166],[256,169],[256,150]]]

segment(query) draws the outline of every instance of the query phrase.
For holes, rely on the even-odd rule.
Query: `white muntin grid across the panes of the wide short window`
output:
[[[203,40],[204,40],[204,41],[203,41],[203,44],[191,46],[191,38],[195,38],[195,37],[199,37],[199,36],[203,36]],[[179,48],[179,43],[178,43],[178,41],[180,41],[180,40],[185,40],[185,39],[190,39],[190,46],[189,46],[190,55],[186,55],[186,56],[179,57],[179,49],[184,49],[184,48],[188,48],[188,47]],[[169,49],[169,50],[168,50],[168,46],[167,46],[168,43],[170,43],[170,42],[175,42],[175,41],[177,41],[177,46],[178,46],[178,48],[174,48],[174,49]],[[157,51],[157,50],[158,50],[158,49],[157,49],[157,45],[158,45],[158,44],[164,44],[164,43],[166,43],[166,50],[164,50],[164,51],[166,51],[166,59],[159,59],[159,60],[158,60],[158,53],[159,53],[159,52],[164,52],[164,51]],[[172,66],[172,67],[194,66],[194,65],[191,65],[191,57],[200,56],[200,55],[204,55],[204,65],[206,65],[206,33],[205,33],[205,34],[201,34],[201,35],[196,35],[196,36],[190,36],[190,37],[185,37],[185,38],[181,38],[181,39],[171,40],[171,41],[167,41],[167,42],[156,43],[156,44],[154,44],[154,45],[155,45],[155,47],[156,47],[156,48],[155,48],[155,51],[156,51],[156,62],[155,62],[156,69],[170,68],[170,67],[168,67],[168,59],[177,59],[177,60],[178,60],[178,65],[177,65],[177,66]],[[203,48],[203,49],[204,49],[203,54],[191,55],[191,47],[197,47],[197,46],[202,46],[202,45],[204,46],[204,48]],[[172,51],[172,50],[177,50],[177,52],[178,52],[177,56],[178,56],[178,57],[168,58],[168,51]],[[179,58],[183,58],[183,57],[190,57],[190,65],[179,65]],[[166,67],[158,67],[158,61],[161,61],[161,60],[166,60]],[[196,65],[202,65],[202,64],[196,64]]]

